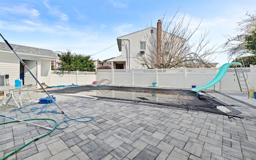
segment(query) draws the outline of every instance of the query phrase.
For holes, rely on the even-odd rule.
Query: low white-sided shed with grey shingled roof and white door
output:
[[[52,50],[33,48],[10,44],[37,80],[50,86],[51,61],[58,57]],[[9,84],[14,85],[16,78],[21,78],[24,85],[37,84],[36,80],[26,70],[18,57],[4,42],[0,42],[0,71],[2,75],[9,75]]]

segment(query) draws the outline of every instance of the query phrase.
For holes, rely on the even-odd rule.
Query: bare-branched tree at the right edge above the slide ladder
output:
[[[237,36],[231,37],[229,35],[225,35],[227,38],[226,43],[222,44],[222,53],[228,54],[229,58],[232,56],[241,57],[246,56],[246,54],[254,54],[252,50],[248,50],[246,45],[246,37],[248,35],[252,35],[256,30],[256,15],[248,14],[247,19],[238,22],[238,28],[236,28],[236,32],[240,32]]]

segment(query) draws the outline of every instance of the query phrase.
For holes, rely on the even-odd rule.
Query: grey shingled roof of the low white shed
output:
[[[23,55],[30,55],[30,56],[38,56],[38,57],[54,58],[54,59],[58,58],[52,50],[46,50],[46,49],[40,49],[40,48],[34,48],[34,47],[28,47],[28,46],[20,46],[17,44],[10,44],[10,45],[12,46],[12,48],[15,50],[17,54],[22,53]],[[9,46],[4,42],[0,42],[0,50],[12,52]]]

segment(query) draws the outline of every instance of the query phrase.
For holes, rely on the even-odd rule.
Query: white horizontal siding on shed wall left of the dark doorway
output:
[[[0,53],[0,71],[2,75],[9,74],[9,84],[14,85],[16,78],[20,78],[20,61],[15,55]]]

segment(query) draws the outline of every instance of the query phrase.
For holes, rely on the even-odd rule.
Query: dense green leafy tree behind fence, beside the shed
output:
[[[67,50],[67,52],[56,51],[55,53],[60,60],[60,62],[58,62],[60,66],[59,70],[94,71],[95,66],[92,60],[90,60],[90,56],[72,54],[70,50]]]

